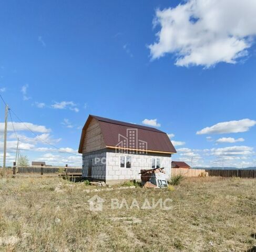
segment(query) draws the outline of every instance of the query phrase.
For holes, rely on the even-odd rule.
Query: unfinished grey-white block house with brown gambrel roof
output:
[[[82,176],[108,184],[139,180],[141,169],[171,172],[176,153],[168,135],[155,128],[89,115],[81,133]]]

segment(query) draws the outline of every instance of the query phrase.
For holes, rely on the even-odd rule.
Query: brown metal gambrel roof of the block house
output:
[[[147,142],[148,152],[163,152],[163,153],[176,153],[174,146],[172,145],[168,135],[155,128],[146,127],[138,124],[121,122],[117,120],[112,120],[103,117],[97,117],[89,115],[85,126],[81,134],[81,140],[79,145],[79,153],[83,151],[83,143],[85,137],[85,131],[88,127],[91,119],[95,118],[99,122],[101,132],[103,133],[103,138],[106,147],[115,147],[118,141],[118,134],[126,136],[127,129],[137,129],[138,130],[138,140]]]

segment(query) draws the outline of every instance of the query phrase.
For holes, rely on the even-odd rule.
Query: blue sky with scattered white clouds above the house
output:
[[[167,132],[172,160],[256,166],[255,12],[254,0],[2,1],[0,93],[21,154],[80,166],[94,114]],[[9,115],[9,165],[16,135]]]

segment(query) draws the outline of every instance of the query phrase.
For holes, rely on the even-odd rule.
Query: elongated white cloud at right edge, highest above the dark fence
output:
[[[242,119],[239,121],[219,122],[206,127],[197,134],[223,134],[223,133],[238,133],[248,131],[250,127],[253,127],[256,121],[250,119]]]

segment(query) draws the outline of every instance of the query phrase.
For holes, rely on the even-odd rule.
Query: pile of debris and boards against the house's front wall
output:
[[[165,168],[155,168],[150,170],[140,170],[141,183],[147,188],[168,187]]]

